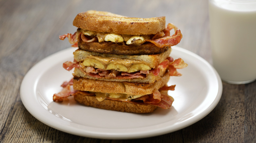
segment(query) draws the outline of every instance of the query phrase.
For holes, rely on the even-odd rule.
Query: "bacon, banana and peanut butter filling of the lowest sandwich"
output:
[[[148,95],[129,95],[121,93],[101,93],[101,92],[88,92],[73,89],[73,79],[69,82],[64,82],[62,85],[62,91],[53,95],[53,101],[63,102],[68,100],[69,96],[76,96],[76,94],[82,94],[84,96],[95,96],[95,98],[102,102],[106,99],[117,100],[122,102],[134,103],[134,104],[147,104],[158,106],[163,109],[169,109],[174,101],[171,96],[168,96],[168,90],[174,90],[175,85],[163,86],[160,89],[155,89],[152,94]]]

